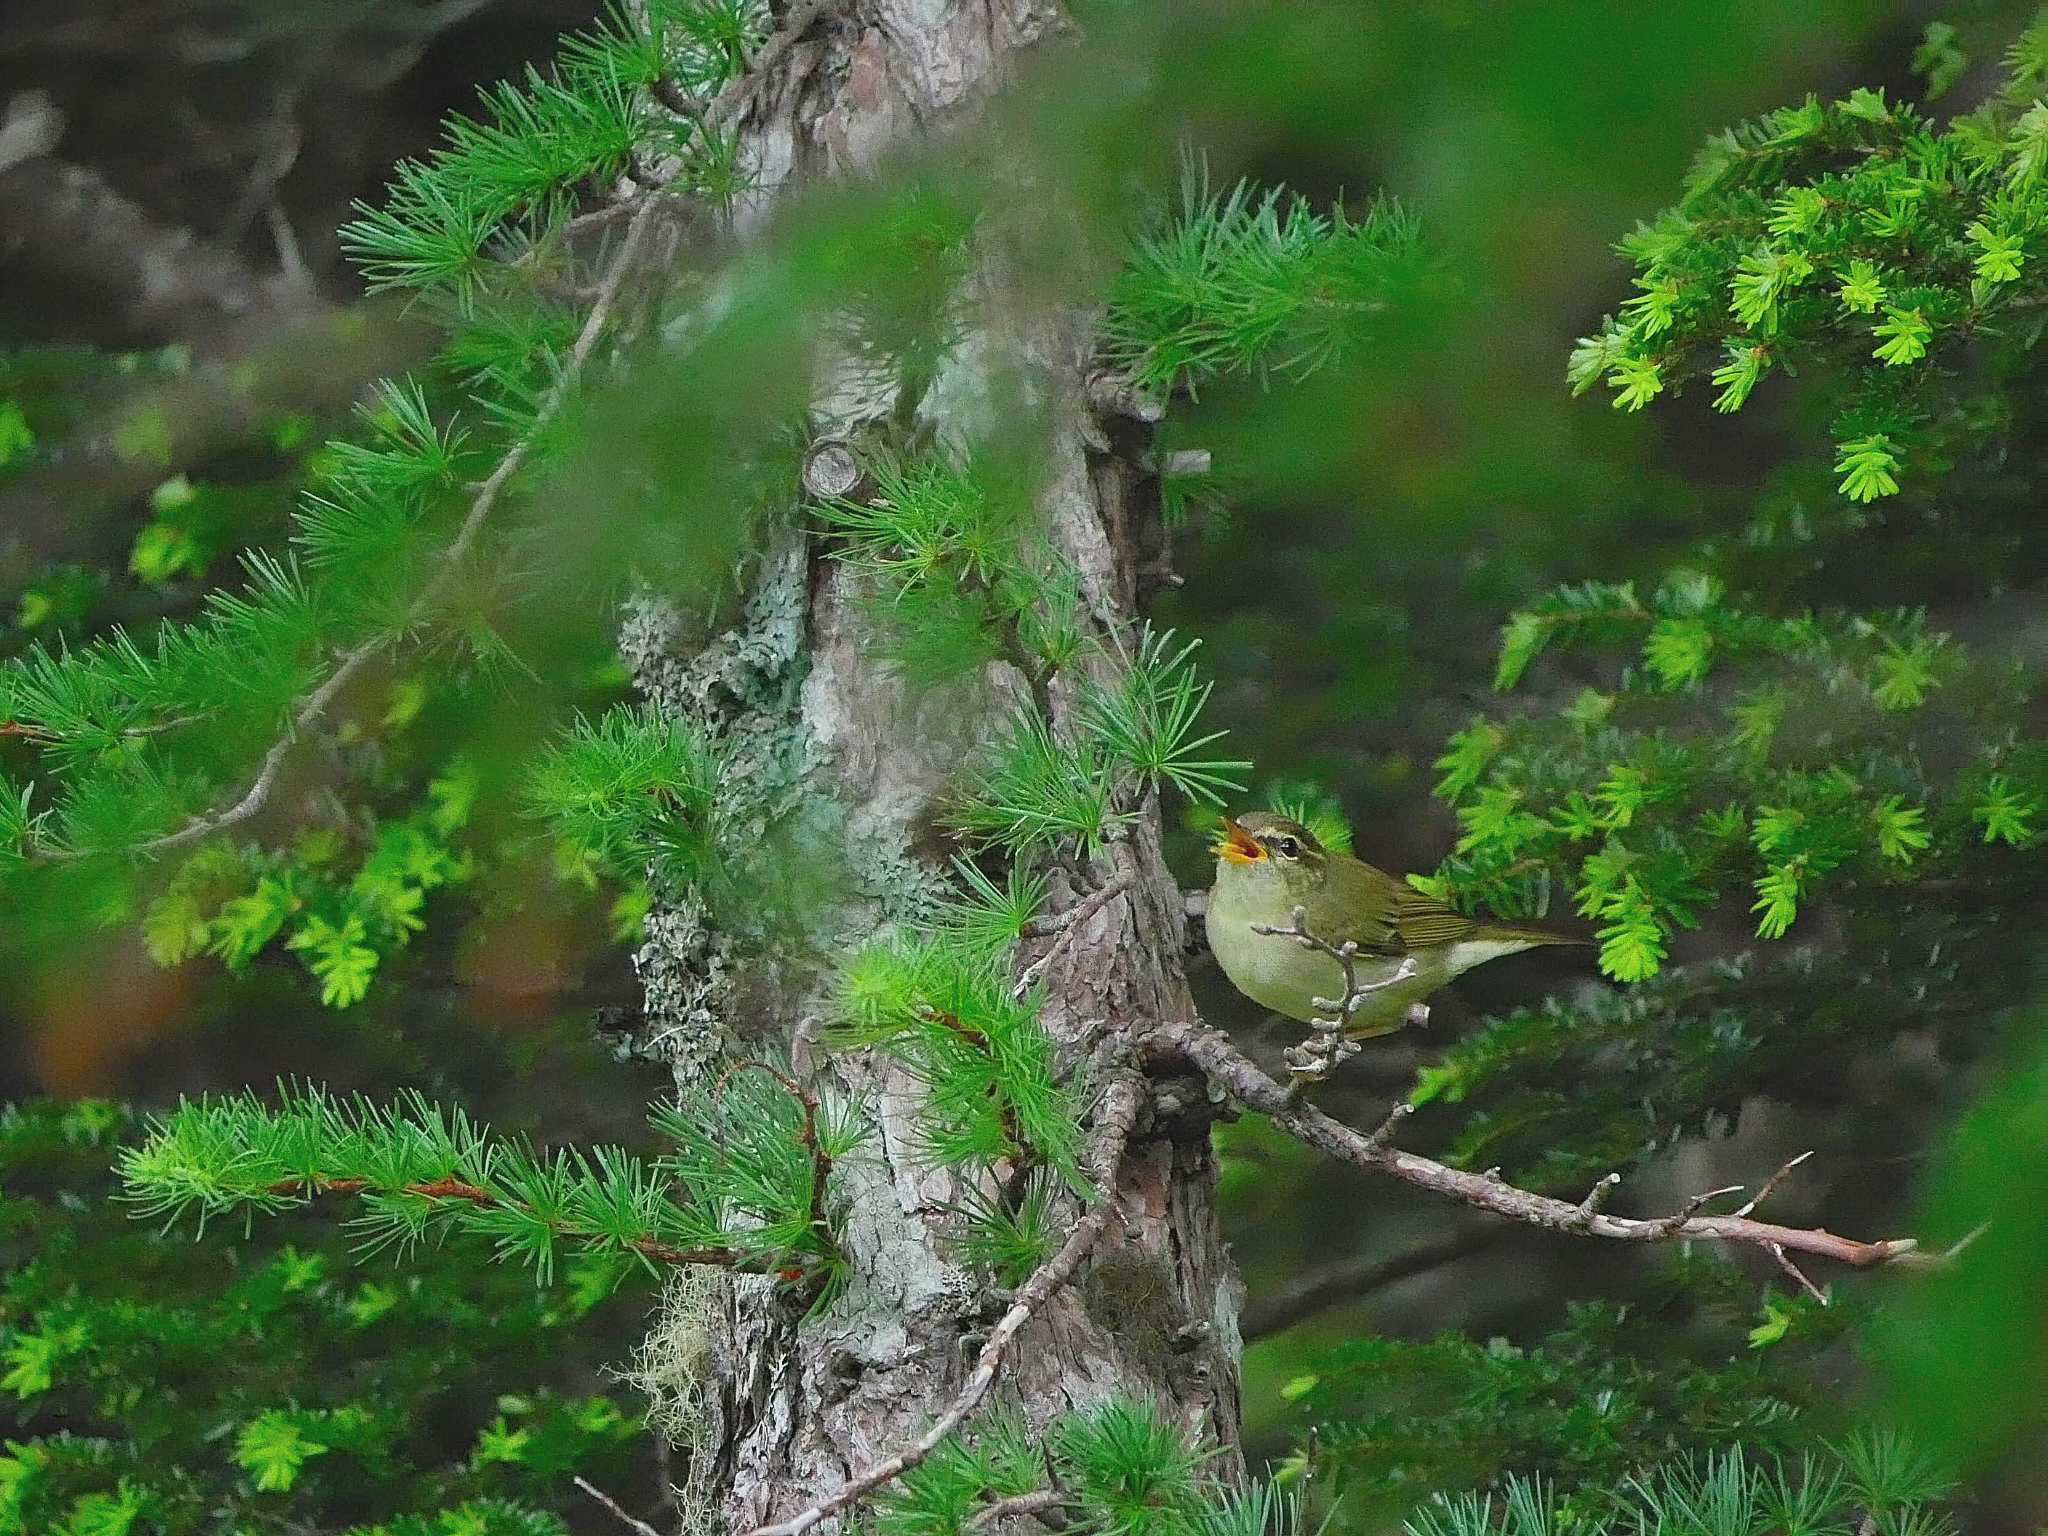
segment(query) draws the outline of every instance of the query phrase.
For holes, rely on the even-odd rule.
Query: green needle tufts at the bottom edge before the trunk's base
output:
[[[1102,1536],[1292,1536],[1298,1505],[1270,1483],[1231,1487],[1149,1403],[1110,1399],[1032,1432],[991,1413],[879,1499],[881,1536],[963,1536],[997,1499],[1057,1495],[1051,1511]]]

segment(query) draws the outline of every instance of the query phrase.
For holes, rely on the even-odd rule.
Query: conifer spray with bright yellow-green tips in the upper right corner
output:
[[[1679,203],[1620,242],[1636,264],[1620,317],[1585,338],[1571,383],[1640,410],[1712,375],[1743,410],[1772,375],[1810,375],[1835,414],[1841,496],[1896,496],[2009,426],[1972,408],[1970,371],[2025,365],[2044,301],[2048,106],[2025,59],[1974,111],[1933,123],[1855,90],[1808,96],[1708,141]],[[1956,82],[1954,29],[1915,53],[1929,98]]]

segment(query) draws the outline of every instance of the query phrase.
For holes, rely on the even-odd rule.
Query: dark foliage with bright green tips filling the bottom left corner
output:
[[[571,1473],[643,1470],[637,1415],[573,1395],[563,1329],[633,1321],[592,1313],[608,1286],[537,1292],[459,1247],[379,1282],[332,1229],[199,1247],[109,1221],[133,1130],[98,1100],[0,1110],[0,1532],[563,1536]]]

